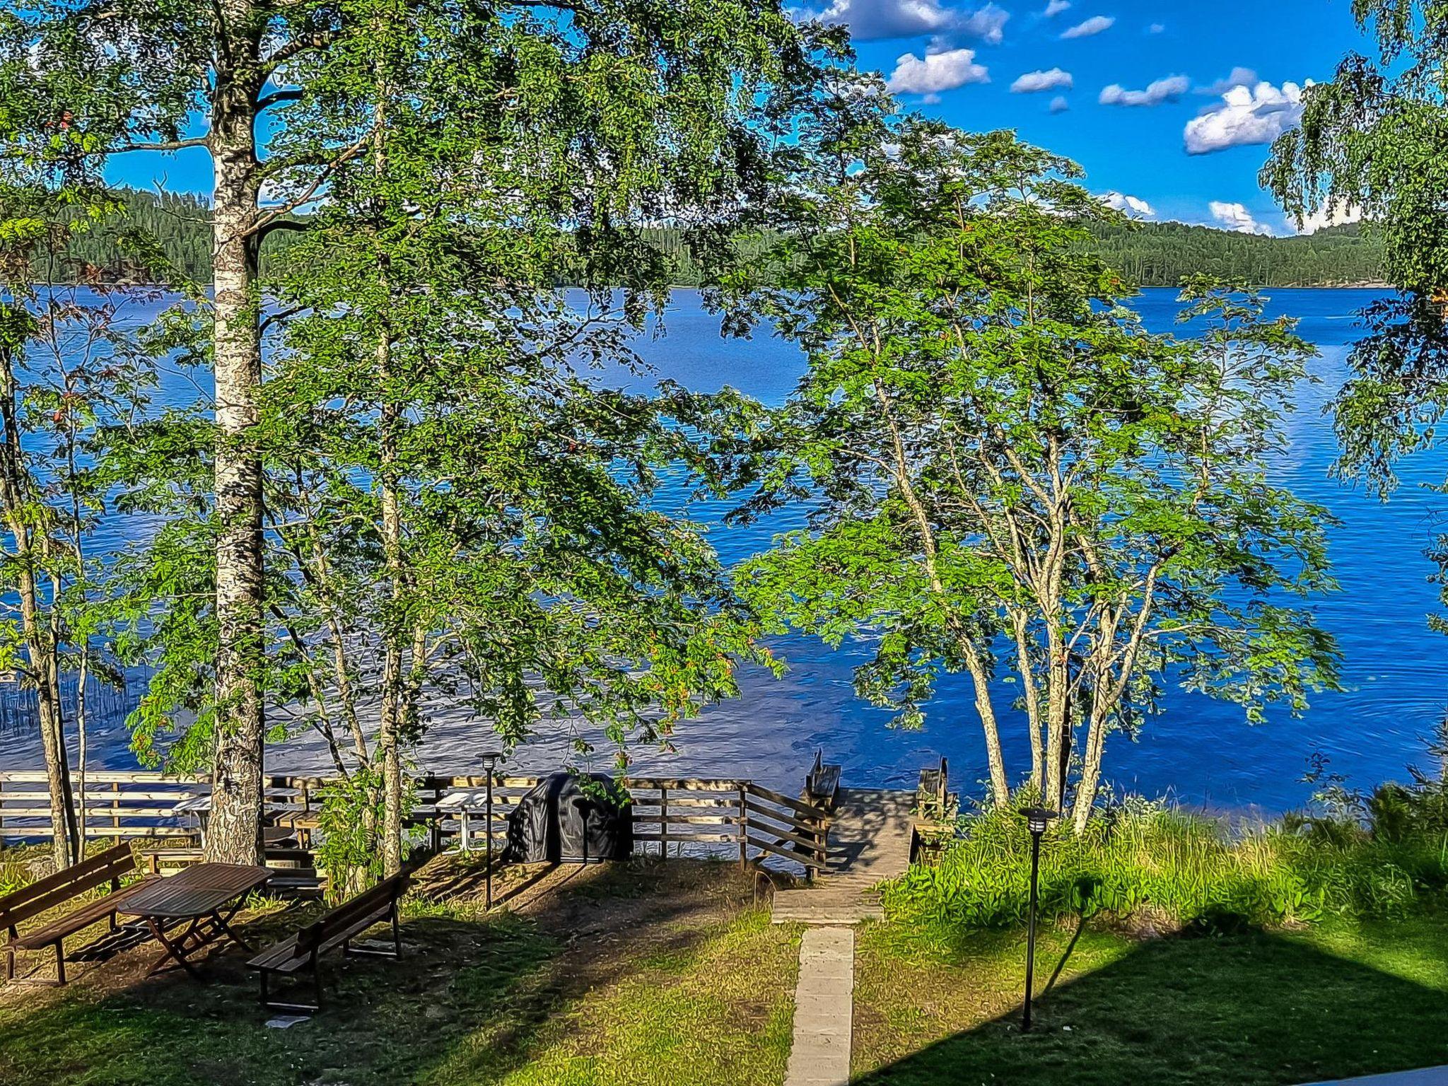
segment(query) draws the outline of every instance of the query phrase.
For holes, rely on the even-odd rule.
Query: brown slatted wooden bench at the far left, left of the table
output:
[[[17,983],[54,985],[65,983],[65,940],[75,935],[91,924],[103,919],[110,921],[111,931],[116,930],[116,909],[125,904],[126,898],[136,889],[135,886],[120,888],[123,876],[136,870],[136,860],[129,844],[117,844],[98,856],[93,856],[74,867],[56,872],[39,882],[32,882],[6,898],[0,898],[0,930],[6,933],[4,979]],[[84,893],[100,886],[110,885],[110,893],[97,898],[87,905],[68,912],[59,919],[19,934],[19,925],[49,912],[54,908],[67,905]],[[55,948],[55,979],[20,977],[14,975],[14,963],[19,951],[38,951],[46,947]]]

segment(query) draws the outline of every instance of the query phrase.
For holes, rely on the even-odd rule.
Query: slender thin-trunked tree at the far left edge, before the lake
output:
[[[107,497],[93,462],[100,433],[140,410],[151,384],[114,352],[132,292],[65,285],[85,271],[67,251],[119,210],[104,193],[48,188],[25,162],[0,180],[0,670],[35,691],[56,870],[85,851],[87,681],[120,681],[90,607]]]

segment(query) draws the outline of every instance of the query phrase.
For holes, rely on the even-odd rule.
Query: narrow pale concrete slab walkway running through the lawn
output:
[[[785,1086],[846,1086],[854,1016],[854,930],[805,928],[795,986],[795,1041]]]

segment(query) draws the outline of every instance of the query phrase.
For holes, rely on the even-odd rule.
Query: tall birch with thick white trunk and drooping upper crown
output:
[[[268,235],[297,226],[290,213],[324,195],[343,167],[366,161],[374,127],[385,123],[375,101],[362,111],[375,123],[320,129],[304,119],[337,122],[326,109],[337,101],[329,98],[336,72],[366,71],[368,43],[413,16],[482,45],[471,56],[479,67],[452,72],[453,117],[492,132],[488,161],[546,155],[595,194],[611,191],[586,207],[549,210],[560,229],[615,242],[615,223],[628,219],[620,213],[639,211],[644,191],[666,201],[665,214],[679,211],[669,197],[747,203],[762,180],[753,156],[780,136],[759,96],[789,97],[812,67],[807,32],[776,0],[416,0],[390,9],[366,0],[22,0],[0,16],[7,71],[23,87],[30,122],[12,133],[12,149],[48,155],[75,178],[98,178],[109,159],[135,152],[203,151],[213,168],[206,355],[214,497],[204,534],[214,547],[214,601],[209,617],[184,626],[214,633],[214,663],[204,666],[214,689],[200,702],[171,675],[159,695],[178,695],[209,728],[206,847],[216,860],[255,862],[261,849],[272,630],[258,253]],[[418,48],[416,38],[408,48]],[[798,83],[805,96],[815,84]],[[599,266],[623,274],[643,252],[608,249]],[[169,620],[162,627],[178,628]],[[201,653],[182,656],[200,662]]]

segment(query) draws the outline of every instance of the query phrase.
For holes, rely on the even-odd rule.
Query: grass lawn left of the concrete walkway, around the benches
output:
[[[404,960],[333,956],[327,1011],[290,1030],[264,1025],[236,948],[213,951],[204,986],[145,979],[149,944],[77,967],[68,989],[0,989],[0,1083],[783,1080],[798,931],[770,927],[731,864],[560,869],[488,918],[478,882],[433,875],[424,893],[443,902],[410,902]],[[258,902],[245,933],[264,943],[314,914]]]

